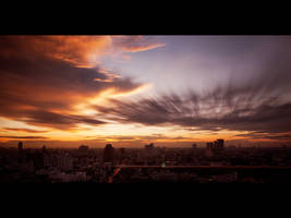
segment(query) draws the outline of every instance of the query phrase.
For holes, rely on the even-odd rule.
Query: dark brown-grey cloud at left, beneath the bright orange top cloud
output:
[[[98,125],[104,122],[88,116],[73,116],[70,110],[107,88],[122,93],[140,86],[131,78],[102,73],[98,65],[76,66],[64,61],[57,56],[60,49],[56,49],[62,41],[53,41],[44,37],[0,37],[1,117],[57,129],[74,128],[77,123]],[[82,50],[74,55],[73,47],[69,51],[68,57],[75,60]]]

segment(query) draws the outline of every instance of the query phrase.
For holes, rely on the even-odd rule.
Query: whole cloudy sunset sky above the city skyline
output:
[[[0,145],[291,144],[291,36],[1,36]]]

